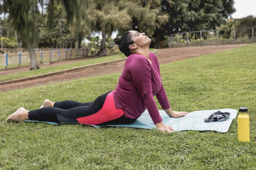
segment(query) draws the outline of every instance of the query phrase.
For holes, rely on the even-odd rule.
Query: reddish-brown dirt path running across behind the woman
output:
[[[196,57],[203,54],[229,50],[231,48],[237,48],[244,45],[245,44],[225,45],[225,46],[165,48],[165,49],[158,49],[156,52],[156,55],[160,64],[171,63],[174,61],[189,59],[189,58]],[[77,60],[73,60],[73,61],[76,62]],[[49,77],[38,78],[35,80],[3,84],[3,85],[0,85],[0,92],[12,90],[12,89],[40,86],[40,85],[45,85],[45,84],[54,83],[54,82],[70,81],[78,78],[86,78],[86,77],[98,76],[98,75],[109,74],[114,72],[121,72],[124,68],[124,63],[125,63],[125,60],[117,61],[113,63],[92,66],[92,67],[84,68],[81,70],[75,70],[75,71],[67,72],[63,74],[57,74]]]

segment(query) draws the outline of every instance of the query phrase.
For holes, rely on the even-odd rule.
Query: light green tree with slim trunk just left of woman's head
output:
[[[102,50],[99,56],[107,55],[106,39],[115,30],[131,28],[131,18],[127,8],[123,6],[125,0],[87,1],[87,15],[91,31],[102,33]]]

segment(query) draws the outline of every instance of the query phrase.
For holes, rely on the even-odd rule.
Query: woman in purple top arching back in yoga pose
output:
[[[151,39],[145,33],[127,31],[114,41],[128,57],[115,90],[99,96],[94,102],[45,100],[36,110],[29,111],[21,107],[6,121],[78,122],[100,126],[130,124],[148,109],[157,129],[171,132],[173,128],[162,123],[153,96],[157,97],[162,109],[170,117],[186,116],[188,112],[172,111],[162,85],[157,57],[149,52]]]

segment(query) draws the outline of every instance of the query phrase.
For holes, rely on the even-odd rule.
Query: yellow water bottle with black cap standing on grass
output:
[[[250,142],[250,129],[249,129],[249,116],[247,115],[248,109],[246,107],[239,108],[238,115],[238,141]]]

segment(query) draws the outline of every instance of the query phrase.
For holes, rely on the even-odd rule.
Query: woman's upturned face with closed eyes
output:
[[[134,41],[134,44],[137,47],[148,47],[151,43],[151,39],[148,38],[148,36],[145,35],[145,33],[139,33],[138,31],[130,31],[132,35],[132,41]]]

